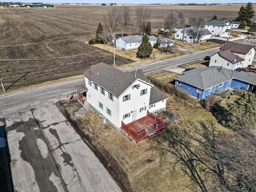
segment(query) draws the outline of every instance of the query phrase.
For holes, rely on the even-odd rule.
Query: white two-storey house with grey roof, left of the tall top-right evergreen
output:
[[[211,20],[205,25],[212,36],[228,37],[230,35],[232,24],[228,20]]]

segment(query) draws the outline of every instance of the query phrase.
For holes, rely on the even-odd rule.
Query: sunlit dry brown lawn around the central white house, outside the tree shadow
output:
[[[168,95],[166,107],[174,108],[181,116],[183,124],[180,129],[186,129],[190,122],[201,128],[200,122],[212,122],[217,130],[224,130],[217,124],[210,112],[205,112],[199,104],[190,104],[184,100]],[[170,152],[164,152],[161,147],[161,136],[156,140],[144,139],[138,144],[122,130],[116,130],[110,124],[101,124],[102,119],[95,112],[89,112],[84,117],[74,116],[74,111],[80,108],[77,102],[64,104],[70,118],[82,132],[83,138],[105,161],[105,166],[112,170],[112,175],[122,183],[127,191],[146,192],[186,192],[196,191],[190,178],[176,157]],[[191,115],[193,114],[193,115]],[[177,125],[175,125],[177,126]],[[210,126],[210,125],[209,125]]]

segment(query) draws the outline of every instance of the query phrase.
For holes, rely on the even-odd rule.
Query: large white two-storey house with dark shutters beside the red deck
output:
[[[144,76],[142,70],[122,72],[103,62],[90,66],[85,76],[87,102],[112,125],[120,128],[165,110],[168,97]],[[81,91],[80,91],[81,92]]]

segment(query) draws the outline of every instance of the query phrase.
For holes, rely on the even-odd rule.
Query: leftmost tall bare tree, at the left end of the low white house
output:
[[[118,24],[120,23],[121,9],[117,6],[110,6],[103,16],[103,23],[105,28],[111,34],[111,40],[114,40],[114,33],[118,29]],[[111,43],[112,43],[111,42]]]

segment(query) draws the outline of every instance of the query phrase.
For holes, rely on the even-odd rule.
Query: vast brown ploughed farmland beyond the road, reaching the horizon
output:
[[[57,5],[58,8],[2,8],[0,12],[0,71],[6,88],[14,90],[82,74],[92,64],[113,64],[109,49],[99,51],[84,42],[95,36],[102,14],[109,8],[100,5]],[[126,5],[131,10],[131,21],[126,33],[137,31],[136,5]],[[186,18],[204,15],[208,20],[234,19],[240,5],[177,6],[145,5],[152,10],[152,31],[163,28],[164,16],[170,10],[182,12]],[[116,33],[118,35],[118,32]],[[205,48],[204,46],[197,46]],[[184,54],[182,52],[178,53]],[[134,55],[134,53],[133,53]],[[171,55],[168,55],[168,57]],[[140,63],[165,58],[154,52]],[[129,57],[131,58],[131,57]],[[116,65],[134,62],[117,56]],[[30,72],[26,74],[27,72]],[[21,78],[22,76],[25,77]],[[20,79],[21,78],[21,79]],[[18,81],[17,81],[18,80]]]

